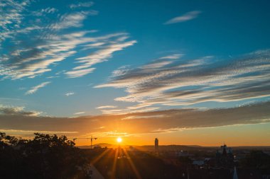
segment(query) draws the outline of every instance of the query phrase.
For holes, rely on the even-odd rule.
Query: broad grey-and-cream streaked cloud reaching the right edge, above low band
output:
[[[185,106],[206,101],[227,102],[270,96],[269,71],[270,50],[230,60],[161,57],[136,69],[126,70],[95,88],[125,88],[128,95],[114,100],[136,103],[122,110],[132,112],[154,108],[155,105]]]

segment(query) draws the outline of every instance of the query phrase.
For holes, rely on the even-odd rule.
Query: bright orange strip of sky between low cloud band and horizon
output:
[[[154,145],[153,139],[159,139],[160,145],[199,145],[220,146],[225,142],[227,146],[270,146],[269,137],[270,124],[239,125],[212,128],[183,129],[178,132],[132,134],[121,132],[121,145],[144,146]],[[102,134],[102,133],[100,133]],[[95,144],[119,145],[117,134],[112,136],[98,136]],[[90,146],[90,140],[78,139],[77,146]]]

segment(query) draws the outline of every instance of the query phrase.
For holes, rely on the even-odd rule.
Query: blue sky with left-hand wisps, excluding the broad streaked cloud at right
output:
[[[209,65],[215,69],[249,53],[268,50],[268,6],[267,1],[3,1],[1,104],[53,116],[96,115],[101,113],[96,108],[102,105],[119,110],[129,107],[134,103],[114,100],[126,95],[125,86],[94,87],[112,80],[112,72],[118,68],[136,69],[162,57],[178,55],[185,62],[209,57],[209,61],[220,61]],[[54,49],[70,46],[53,51],[49,48],[54,42],[58,43]],[[20,54],[14,54],[19,50]],[[103,56],[95,56],[100,50]],[[5,70],[16,60],[31,57],[36,59]],[[72,68],[87,64],[84,57],[90,65],[76,74]],[[50,58],[51,62],[42,63]],[[24,71],[26,65],[30,70]],[[39,85],[33,93],[27,92]],[[173,107],[158,103],[155,108],[231,107],[248,102],[237,100]]]

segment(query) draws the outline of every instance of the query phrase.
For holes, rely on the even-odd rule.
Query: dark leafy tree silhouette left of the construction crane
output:
[[[87,178],[87,163],[65,136],[35,133],[26,140],[0,132],[1,178]]]

